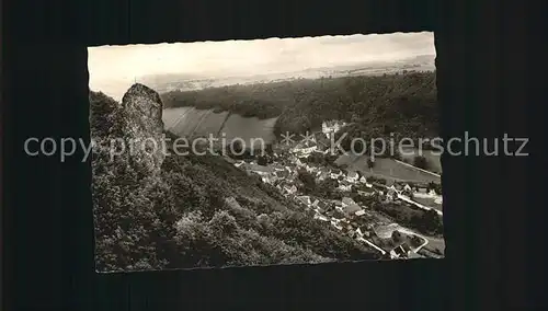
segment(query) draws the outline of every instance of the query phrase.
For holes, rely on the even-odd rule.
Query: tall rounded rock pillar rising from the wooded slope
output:
[[[126,152],[150,173],[159,172],[165,159],[160,96],[142,84],[134,84],[122,99],[122,110]]]

